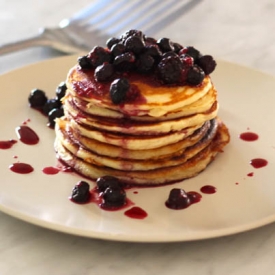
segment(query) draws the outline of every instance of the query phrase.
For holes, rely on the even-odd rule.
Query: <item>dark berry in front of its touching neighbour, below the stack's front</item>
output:
[[[102,198],[104,207],[121,207],[126,203],[126,192],[120,187],[108,187]]]

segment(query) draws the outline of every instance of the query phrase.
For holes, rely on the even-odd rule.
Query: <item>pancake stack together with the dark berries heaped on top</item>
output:
[[[210,74],[194,47],[130,30],[69,71],[56,118],[58,158],[80,174],[160,185],[194,177],[229,142]]]

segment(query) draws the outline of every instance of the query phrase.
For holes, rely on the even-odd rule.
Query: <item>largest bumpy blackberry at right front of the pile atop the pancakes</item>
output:
[[[178,56],[163,58],[158,64],[158,73],[166,84],[175,84],[181,81],[182,63]]]

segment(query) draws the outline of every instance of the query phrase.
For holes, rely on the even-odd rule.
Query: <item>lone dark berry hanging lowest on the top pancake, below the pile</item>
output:
[[[126,94],[130,89],[130,83],[126,78],[118,78],[111,83],[110,96],[114,104],[124,102]]]

